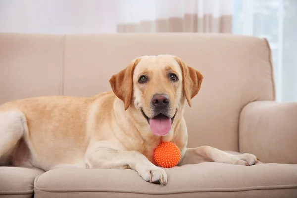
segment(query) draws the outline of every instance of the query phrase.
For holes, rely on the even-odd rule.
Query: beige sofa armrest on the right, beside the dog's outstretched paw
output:
[[[264,163],[297,164],[297,102],[247,104],[240,114],[239,151]]]

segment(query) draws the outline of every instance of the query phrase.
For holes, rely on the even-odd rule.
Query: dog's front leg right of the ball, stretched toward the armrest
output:
[[[202,146],[197,148],[185,148],[183,159],[178,164],[198,164],[201,162],[219,162],[251,166],[259,162],[256,156],[248,153],[233,155],[217,148]]]

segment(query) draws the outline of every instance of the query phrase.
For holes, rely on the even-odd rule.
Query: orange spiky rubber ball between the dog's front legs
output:
[[[173,142],[163,142],[154,150],[153,157],[158,166],[172,168],[178,164],[181,152]]]

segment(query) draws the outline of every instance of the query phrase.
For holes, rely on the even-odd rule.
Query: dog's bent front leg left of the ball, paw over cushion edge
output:
[[[87,168],[117,168],[135,170],[145,181],[166,185],[166,172],[137,151],[117,151],[110,147],[92,147],[86,153]]]

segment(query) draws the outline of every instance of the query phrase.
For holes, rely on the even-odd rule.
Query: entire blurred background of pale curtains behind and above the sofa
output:
[[[230,33],[265,37],[277,101],[297,101],[297,0],[0,0],[0,32]]]

